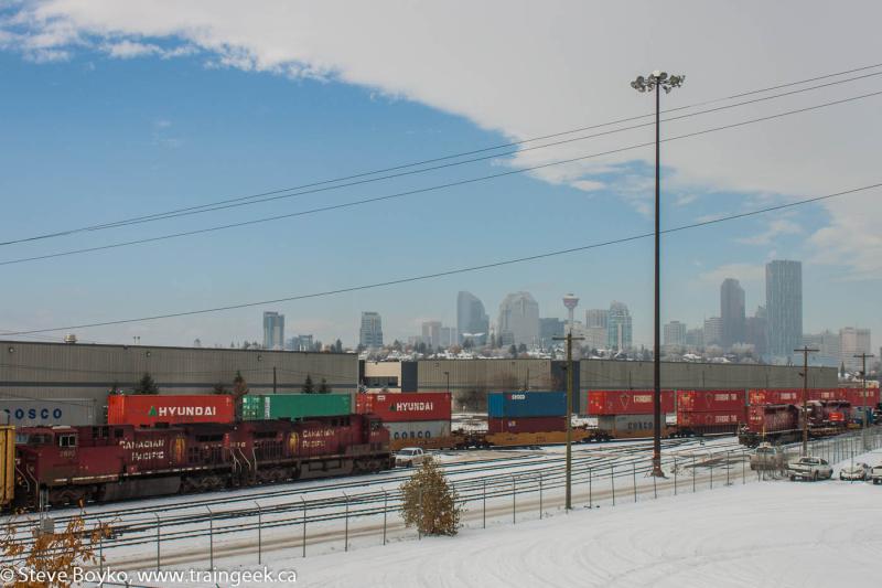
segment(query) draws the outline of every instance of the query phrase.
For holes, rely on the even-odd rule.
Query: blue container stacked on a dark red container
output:
[[[487,432],[567,430],[567,393],[497,392],[487,395]]]

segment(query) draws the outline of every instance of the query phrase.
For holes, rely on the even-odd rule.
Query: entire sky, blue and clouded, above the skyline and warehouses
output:
[[[882,182],[882,96],[872,95],[882,92],[882,65],[869,67],[882,63],[882,6],[872,1],[0,7],[2,242],[642,117],[442,169],[2,245],[6,331],[61,328],[40,334],[61,338],[68,325],[299,297],[650,232],[654,151],[634,146],[654,139],[645,116],[654,104],[630,82],[654,70],[686,75],[662,96],[663,109],[677,109],[665,117],[682,117],[662,126],[671,139],[662,150],[663,228]],[[831,85],[771,98],[822,84]],[[759,97],[770,99],[736,106]],[[851,100],[675,139],[843,99]],[[585,138],[598,133],[605,135]],[[577,140],[547,146],[561,139]],[[537,165],[546,167],[527,170]],[[458,185],[310,212],[449,183]],[[764,303],[764,264],[798,259],[804,331],[869,327],[878,345],[881,195],[865,190],[665,236],[663,321],[698,327],[718,316],[727,277],[744,286],[751,314]],[[19,261],[278,215],[289,216]],[[455,324],[459,290],[481,298],[493,321],[506,293],[527,290],[541,316],[563,317],[567,292],[580,297],[578,312],[623,301],[635,342],[648,345],[652,263],[643,238],[75,332],[99,342],[228,345],[260,340],[262,311],[278,310],[288,336],[354,345],[363,310],[381,313],[388,340],[405,339],[423,320]]]

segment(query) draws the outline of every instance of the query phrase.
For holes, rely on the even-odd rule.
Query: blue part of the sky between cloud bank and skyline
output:
[[[61,4],[58,10],[66,10]],[[94,4],[100,8],[103,3]],[[555,119],[536,122],[530,116],[499,114],[497,110],[509,107],[502,103],[498,109],[492,103],[475,106],[475,111],[486,113],[483,116],[456,101],[470,92],[473,96],[469,104],[481,104],[492,96],[475,81],[473,88],[454,76],[451,84],[456,82],[456,92],[442,98],[434,90],[408,89],[407,84],[398,87],[387,82],[398,79],[395,72],[384,71],[372,79],[355,67],[347,71],[345,65],[334,65],[336,70],[325,75],[292,74],[266,65],[266,55],[271,52],[247,42],[243,42],[244,51],[252,62],[241,65],[230,61],[238,53],[218,50],[214,41],[200,45],[186,33],[146,38],[144,33],[130,32],[131,24],[117,20],[95,24],[100,11],[89,20],[77,10],[71,9],[73,15],[64,18],[71,19],[74,29],[79,28],[78,41],[68,36],[54,44],[44,43],[37,47],[42,54],[28,49],[28,40],[57,32],[57,20],[41,24],[40,17],[28,20],[13,8],[6,13],[6,22],[0,21],[6,25],[0,31],[20,35],[14,43],[3,42],[0,35],[0,71],[8,88],[0,93],[0,158],[4,162],[0,226],[6,238],[386,168],[601,122],[635,110],[646,111],[649,106],[622,84],[609,85],[603,99],[598,98],[596,106],[588,111],[573,111],[569,126]],[[321,31],[321,25],[316,30]],[[107,43],[119,47],[126,39],[157,49],[136,51],[126,58],[108,49]],[[445,42],[452,41],[439,40],[438,44]],[[187,49],[181,55],[165,54],[182,46]],[[63,51],[64,55],[47,56],[46,51]],[[846,55],[819,71],[845,70],[852,61]],[[324,63],[318,57],[315,62]],[[293,58],[281,63],[310,62]],[[638,73],[642,63],[625,73]],[[470,64],[461,66],[467,70]],[[484,65],[474,67],[481,71]],[[767,79],[787,82],[799,79],[802,74],[776,72]],[[401,79],[409,79],[408,75],[402,70]],[[756,87],[763,85],[757,81]],[[691,104],[723,96],[729,89],[719,79],[708,81],[685,99],[688,88],[687,84],[666,100],[671,106]],[[842,95],[848,92],[856,90]],[[517,101],[518,96],[508,98]],[[533,99],[525,96],[524,101],[529,103],[528,98]],[[616,103],[622,108],[603,106]],[[776,108],[802,105],[785,101]],[[873,111],[872,106],[863,108]],[[826,115],[811,116],[817,117],[813,120],[818,121],[818,131],[826,131]],[[701,125],[725,121],[708,118]],[[534,125],[538,125],[536,131]],[[774,142],[775,133],[789,129],[772,124],[756,132],[767,133],[768,142]],[[843,132],[853,135],[856,129],[868,130],[849,127]],[[615,145],[650,139],[652,129],[646,128],[623,133]],[[816,195],[803,190],[808,184],[817,183],[819,193],[828,185],[847,189],[861,184],[861,178],[852,174],[836,174],[840,178],[828,184],[814,182],[803,177],[817,172],[817,165],[810,162],[784,180],[770,172],[798,162],[799,153],[782,156],[779,165],[770,168],[762,162],[751,167],[749,153],[744,154],[749,150],[744,149],[739,157],[745,160],[720,154],[722,161],[731,159],[724,170],[718,168],[720,161],[702,159],[740,140],[738,135],[718,133],[665,147],[665,161],[670,162],[665,169],[666,226]],[[865,140],[861,132],[857,141]],[[756,139],[753,141],[757,145]],[[498,173],[595,152],[610,145],[585,141],[568,150],[540,150],[548,152],[541,156],[547,159],[536,159],[539,156],[531,152],[229,211],[7,246],[0,248],[0,259],[286,214]],[[650,150],[635,151],[566,177],[517,174],[207,235],[0,266],[7,286],[0,329],[53,328],[297,296],[645,233],[652,229],[646,214],[646,199],[652,195],[650,156]],[[854,163],[854,158],[848,159]],[[700,164],[692,164],[696,161]],[[741,167],[741,171],[733,172],[734,167]],[[787,184],[795,175],[805,183]],[[581,190],[580,181],[598,188]],[[878,332],[882,325],[875,318],[875,297],[871,293],[878,287],[872,266],[843,264],[847,252],[830,257],[830,247],[819,245],[825,232],[833,232],[835,238],[836,231],[845,231],[842,223],[829,209],[813,205],[666,237],[664,320],[698,325],[703,318],[716,316],[719,284],[724,277],[742,280],[752,312],[764,298],[762,265],[771,258],[795,258],[805,261],[806,331],[858,324]],[[637,342],[650,341],[649,239],[405,286],[78,334],[98,341],[126,342],[139,335],[142,343],[190,344],[200,338],[204,344],[228,344],[232,340],[260,339],[262,310],[279,310],[287,316],[289,335],[314,333],[325,341],[340,336],[353,344],[362,310],[384,316],[389,339],[417,334],[421,320],[441,319],[452,324],[460,289],[478,296],[493,320],[502,298],[517,290],[530,291],[542,316],[563,316],[560,297],[568,291],[581,297],[580,310],[621,300],[634,314]]]

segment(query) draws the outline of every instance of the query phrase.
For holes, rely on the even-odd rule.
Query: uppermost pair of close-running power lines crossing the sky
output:
[[[880,67],[880,66],[882,66],[882,64],[868,65],[868,66],[863,66],[863,67],[857,67],[857,68],[853,68],[853,70],[847,70],[847,71],[836,72],[836,73],[831,73],[831,74],[825,74],[825,75],[821,75],[821,76],[800,79],[800,81],[797,81],[797,82],[789,82],[789,83],[785,83],[785,84],[778,84],[776,86],[768,86],[768,87],[760,88],[760,89],[755,89],[755,90],[743,92],[743,93],[740,93],[740,94],[733,94],[731,96],[725,96],[725,97],[722,97],[722,98],[716,98],[716,99],[711,99],[711,100],[704,100],[704,101],[700,101],[700,103],[695,103],[695,104],[687,105],[687,106],[680,106],[680,107],[677,107],[677,108],[670,108],[670,109],[667,109],[667,110],[663,110],[663,113],[668,114],[668,113],[674,113],[674,111],[679,111],[679,110],[685,110],[685,109],[690,109],[690,108],[697,108],[699,106],[707,106],[707,105],[710,105],[710,104],[718,104],[718,103],[721,103],[721,101],[727,101],[727,100],[731,100],[731,99],[735,99],[735,98],[741,98],[741,97],[744,97],[744,96],[750,96],[750,95],[754,95],[754,94],[762,94],[762,93],[771,92],[771,90],[774,90],[774,89],[781,89],[781,88],[785,88],[785,87],[797,86],[797,85],[802,85],[802,84],[807,84],[809,82],[817,82],[817,81],[820,81],[820,79],[828,79],[830,77],[837,77],[837,76],[847,75],[847,74],[850,74],[850,73],[872,70],[872,68],[876,68],[876,67]],[[818,89],[818,88],[821,88],[821,87],[843,84],[843,83],[848,83],[848,82],[854,82],[854,81],[858,81],[858,79],[862,79],[862,78],[865,78],[865,77],[871,77],[871,76],[875,76],[875,75],[880,75],[880,74],[882,74],[882,72],[867,74],[867,75],[863,75],[863,76],[858,76],[858,77],[843,79],[843,81],[837,81],[837,82],[832,82],[832,83],[829,83],[829,84],[822,84],[822,85],[819,85],[819,86],[814,86],[814,87],[810,87],[810,88],[803,88],[803,89],[795,90],[795,92],[792,92],[792,93],[784,93],[784,94],[781,94],[781,95],[777,95],[777,96],[759,98],[756,100],[749,100],[749,101],[741,103],[741,104],[738,104],[738,105],[731,105],[731,106],[721,107],[719,109],[732,108],[732,107],[736,107],[736,106],[741,106],[741,105],[745,105],[745,104],[752,104],[753,101],[762,101],[762,100],[766,100],[766,99],[773,99],[773,98],[776,98],[776,97],[787,96],[787,95],[790,95],[790,94],[797,94],[797,93],[802,93],[802,92],[809,92],[809,90],[813,90],[813,89]],[[693,115],[684,115],[684,116],[680,116],[680,117],[671,118],[669,120],[675,120],[677,118],[685,118],[685,117],[688,117],[688,116],[696,116],[696,115],[699,115],[699,114],[706,114],[706,113],[716,111],[716,110],[718,110],[718,109],[710,109],[710,110],[707,110],[704,113],[696,113]],[[523,151],[528,151],[528,150],[534,150],[534,149],[544,149],[544,148],[547,148],[547,147],[552,147],[552,146],[561,145],[561,143],[566,143],[566,142],[584,140],[584,139],[588,139],[588,138],[596,137],[599,135],[581,137],[581,138],[576,138],[576,139],[567,139],[567,140],[563,140],[563,141],[557,141],[557,142],[553,142],[553,143],[548,143],[548,145],[545,145],[545,146],[524,148],[524,149],[518,149],[518,150],[510,151],[510,152],[505,152],[505,153],[495,153],[495,154],[492,154],[492,156],[470,159],[470,160],[465,160],[465,161],[445,163],[443,165],[437,165],[437,167],[431,167],[431,168],[426,168],[426,169],[420,169],[420,170],[413,170],[413,171],[409,171],[409,172],[405,172],[405,173],[394,173],[391,175],[384,175],[384,177],[380,177],[380,178],[366,179],[367,177],[377,175],[379,173],[397,172],[397,171],[404,170],[404,169],[426,165],[426,164],[430,164],[430,163],[438,163],[440,161],[448,161],[448,160],[458,159],[458,158],[461,158],[461,157],[473,156],[473,154],[477,154],[477,153],[486,153],[486,152],[490,152],[490,151],[497,151],[499,149],[505,149],[505,148],[509,148],[509,147],[517,147],[517,146],[530,143],[530,142],[534,142],[534,141],[539,141],[539,140],[545,140],[545,139],[552,139],[552,138],[562,137],[562,136],[566,136],[566,135],[572,135],[572,133],[576,133],[576,132],[598,129],[598,128],[607,127],[607,126],[612,126],[612,125],[617,125],[617,124],[622,124],[622,122],[630,122],[630,121],[638,120],[638,119],[646,118],[646,117],[653,116],[653,115],[654,114],[646,114],[646,115],[638,115],[638,116],[632,116],[632,117],[626,117],[626,118],[620,118],[620,119],[611,120],[611,121],[607,121],[607,122],[601,122],[601,124],[596,124],[596,125],[579,127],[579,128],[571,129],[571,130],[555,132],[555,133],[550,133],[550,135],[544,135],[544,136],[534,137],[534,138],[530,138],[530,139],[524,139],[524,140],[520,140],[520,141],[512,141],[512,142],[502,143],[502,145],[497,145],[497,146],[493,146],[493,147],[475,149],[475,150],[472,150],[472,151],[463,151],[463,152],[460,152],[460,153],[453,153],[453,154],[438,157],[438,158],[433,158],[433,159],[426,159],[426,160],[417,161],[417,162],[412,162],[412,163],[405,163],[405,164],[400,164],[400,165],[394,165],[394,167],[390,167],[390,168],[384,168],[384,169],[379,169],[379,170],[362,172],[362,173],[356,173],[356,174],[352,174],[352,175],[334,178],[334,179],[330,179],[330,180],[322,180],[322,181],[318,181],[318,182],[301,184],[301,185],[298,185],[298,186],[278,189],[278,190],[272,190],[272,191],[268,191],[268,192],[260,192],[260,193],[257,193],[257,194],[250,194],[250,195],[246,195],[246,196],[238,196],[238,197],[222,200],[222,201],[218,201],[218,202],[215,202],[215,203],[209,203],[209,204],[189,206],[189,207],[176,209],[176,210],[166,211],[166,212],[162,212],[162,213],[154,213],[154,214],[150,214],[150,215],[125,218],[125,220],[115,221],[115,222],[111,222],[111,223],[104,223],[104,224],[84,226],[84,227],[78,227],[78,228],[72,228],[72,229],[65,229],[65,231],[60,231],[60,232],[46,233],[46,234],[42,234],[42,235],[33,235],[33,236],[30,236],[30,237],[22,237],[20,239],[0,242],[0,246],[13,245],[13,244],[18,244],[18,243],[25,243],[25,242],[32,242],[32,240],[46,239],[46,238],[52,238],[52,237],[66,236],[66,235],[72,235],[72,234],[76,234],[76,233],[101,231],[101,229],[106,229],[106,228],[115,228],[115,227],[127,226],[127,225],[132,225],[132,224],[141,224],[141,223],[148,223],[148,222],[153,222],[153,221],[174,218],[174,217],[178,217],[178,216],[186,216],[186,215],[192,215],[192,214],[202,214],[202,213],[205,213],[205,212],[213,212],[213,211],[224,210],[224,209],[234,207],[234,206],[244,206],[244,205],[250,205],[250,204],[258,204],[258,203],[261,203],[261,202],[267,202],[267,201],[271,201],[271,200],[278,200],[278,199],[282,199],[282,197],[284,197],[284,199],[293,197],[293,196],[299,196],[299,195],[303,195],[303,194],[310,194],[310,193],[322,192],[322,191],[327,191],[327,190],[337,190],[337,189],[342,189],[342,188],[348,188],[348,186],[359,185],[359,184],[364,184],[364,183],[377,182],[377,181],[399,178],[399,177],[404,177],[404,175],[410,175],[410,174],[415,174],[415,173],[424,173],[427,171],[434,171],[434,170],[438,170],[438,169],[443,169],[443,168],[449,168],[449,167],[454,167],[454,165],[462,165],[462,164],[466,164],[466,163],[473,163],[473,162],[482,161],[482,160],[485,160],[485,159],[505,157],[505,156],[508,156],[508,154],[515,154],[515,153],[523,152]],[[650,125],[650,124],[652,122],[647,122],[646,125]],[[601,133],[601,135],[607,135],[607,133],[612,133],[612,132],[621,132],[621,131],[624,131],[624,130],[630,130],[630,129],[638,128],[638,127],[646,126],[646,125],[637,125],[637,126],[627,127],[627,128],[624,128],[624,129],[616,129],[616,130],[609,131],[609,132]],[[327,184],[333,184],[333,183],[338,183],[338,182],[346,182],[346,181],[349,181],[349,180],[358,180],[358,181],[344,183],[344,184],[341,184],[341,185],[327,186]],[[318,186],[325,186],[325,188],[316,189]],[[315,190],[306,190],[306,189],[315,189]],[[301,190],[305,190],[305,191],[297,192],[297,191],[301,191]],[[287,192],[297,192],[297,193],[286,194]],[[266,197],[266,196],[272,196],[272,197]],[[261,200],[257,200],[257,199],[261,199]]]

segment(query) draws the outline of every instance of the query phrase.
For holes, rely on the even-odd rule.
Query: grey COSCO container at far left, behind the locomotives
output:
[[[41,427],[53,425],[98,425],[104,420],[103,410],[90,398],[57,399],[0,399],[0,424],[17,427]]]

